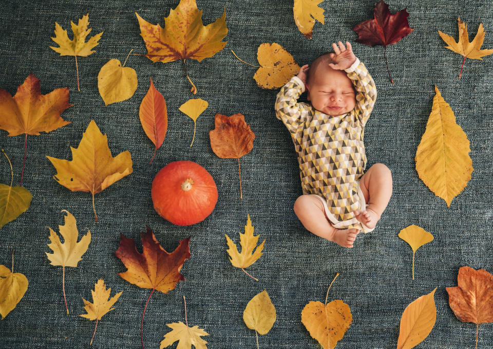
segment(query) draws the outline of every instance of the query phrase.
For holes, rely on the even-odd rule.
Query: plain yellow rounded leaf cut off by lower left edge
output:
[[[24,297],[28,284],[24,274],[14,273],[13,270],[11,272],[5,265],[0,265],[0,315],[2,315],[2,320]]]

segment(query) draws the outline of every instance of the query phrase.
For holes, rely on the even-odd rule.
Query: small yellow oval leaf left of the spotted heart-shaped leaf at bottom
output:
[[[266,290],[258,293],[248,302],[243,311],[243,321],[260,335],[267,334],[276,321],[276,308]]]

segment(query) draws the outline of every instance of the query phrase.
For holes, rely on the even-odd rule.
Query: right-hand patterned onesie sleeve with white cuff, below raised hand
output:
[[[356,117],[363,126],[368,121],[376,100],[376,87],[365,65],[356,58],[356,62],[346,69],[348,78],[351,79],[356,90]]]

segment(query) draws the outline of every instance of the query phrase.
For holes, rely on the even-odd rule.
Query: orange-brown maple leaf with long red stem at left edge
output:
[[[0,89],[0,128],[8,131],[8,136],[26,134],[24,143],[24,162],[26,161],[27,135],[39,135],[65,126],[70,121],[60,117],[65,109],[72,106],[68,102],[68,88],[56,88],[47,95],[41,94],[40,80],[34,74],[24,80],[12,97]]]

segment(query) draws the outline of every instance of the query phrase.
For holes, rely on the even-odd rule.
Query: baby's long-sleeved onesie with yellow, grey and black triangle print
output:
[[[277,94],[276,117],[293,139],[303,194],[318,195],[335,228],[369,232],[372,229],[357,221],[354,210],[366,208],[359,178],[366,167],[363,136],[375,104],[376,88],[359,59],[345,71],[356,90],[352,111],[329,116],[310,103],[297,103],[305,85],[293,77]]]

